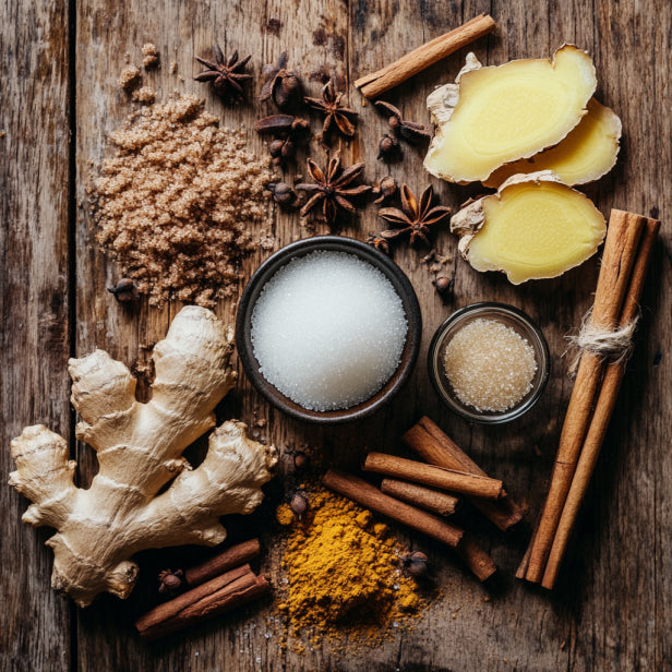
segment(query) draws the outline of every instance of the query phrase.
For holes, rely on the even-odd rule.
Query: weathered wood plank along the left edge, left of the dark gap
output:
[[[50,588],[51,530],[7,485],[27,424],[70,434],[67,3],[0,7],[0,669],[68,670],[70,607]]]

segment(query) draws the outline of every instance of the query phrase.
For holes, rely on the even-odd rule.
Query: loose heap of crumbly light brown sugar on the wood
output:
[[[235,292],[240,262],[268,223],[267,160],[245,134],[219,128],[193,95],[131,115],[95,182],[98,242],[160,305],[212,308]]]

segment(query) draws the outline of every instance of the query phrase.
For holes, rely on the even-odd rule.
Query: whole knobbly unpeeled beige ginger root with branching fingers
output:
[[[136,401],[131,372],[107,352],[70,360],[72,404],[82,418],[76,436],[97,452],[100,467],[91,488],[74,485],[68,444],[46,427],[27,427],[11,444],[17,470],[10,484],[33,502],[23,520],[58,530],[47,541],[56,590],[81,607],[104,591],[127,598],[137,578],[134,553],[218,544],[226,538],[219,516],[260,504],[276,451],[248,439],[244,423],[218,427],[196,469],[181,456],[215,425],[215,406],[236,381],[232,351],[231,329],[190,305],[154,348],[147,404]]]

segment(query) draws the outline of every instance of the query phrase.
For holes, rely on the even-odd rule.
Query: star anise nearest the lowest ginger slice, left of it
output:
[[[419,241],[429,245],[430,227],[445,219],[451,214],[451,208],[444,205],[432,207],[434,190],[431,184],[422,192],[419,203],[408,184],[401,184],[400,194],[401,209],[382,207],[379,211],[379,217],[389,221],[393,227],[381,236],[388,240],[410,236],[411,245]]]

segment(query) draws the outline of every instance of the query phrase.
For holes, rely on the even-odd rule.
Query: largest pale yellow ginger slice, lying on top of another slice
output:
[[[424,167],[449,182],[482,181],[504,164],[556,145],[586,113],[591,58],[564,45],[548,59],[482,68],[473,55],[456,84],[428,97],[437,124]]]

